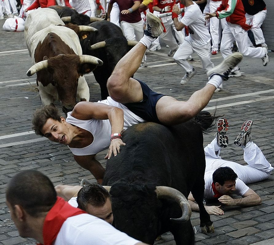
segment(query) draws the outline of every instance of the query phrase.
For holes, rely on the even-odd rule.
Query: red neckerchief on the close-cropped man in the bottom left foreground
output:
[[[57,201],[47,214],[43,226],[44,245],[52,245],[56,239],[61,226],[68,217],[86,213],[82,209],[74,208],[63,198],[57,197]],[[37,245],[42,245],[37,243]]]

